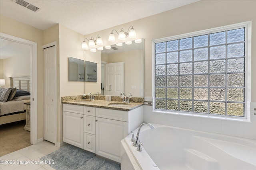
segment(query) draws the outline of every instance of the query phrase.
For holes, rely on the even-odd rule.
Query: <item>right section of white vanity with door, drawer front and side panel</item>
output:
[[[130,111],[96,108],[96,154],[120,162],[121,140],[143,119],[143,107]]]

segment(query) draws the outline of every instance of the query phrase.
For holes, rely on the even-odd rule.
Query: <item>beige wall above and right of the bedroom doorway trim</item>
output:
[[[0,15],[0,32],[37,43],[37,116],[38,139],[44,137],[44,53],[42,49],[43,31],[6,16]]]

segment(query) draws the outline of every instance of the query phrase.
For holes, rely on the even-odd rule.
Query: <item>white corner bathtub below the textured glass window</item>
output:
[[[121,141],[121,170],[256,170],[255,140],[152,125],[140,129],[141,152],[132,134]]]

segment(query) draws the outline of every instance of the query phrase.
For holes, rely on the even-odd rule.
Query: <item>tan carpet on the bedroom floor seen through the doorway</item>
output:
[[[0,156],[31,145],[30,132],[24,130],[25,121],[0,125]]]

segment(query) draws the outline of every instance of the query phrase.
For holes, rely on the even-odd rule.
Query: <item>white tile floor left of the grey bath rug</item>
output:
[[[42,141],[36,145],[30,145],[29,147],[17,150],[15,152],[6,154],[0,157],[0,170],[54,170],[48,164],[36,164],[41,163],[40,158],[55,150],[59,149],[55,144],[48,141]],[[2,161],[13,161],[14,164],[2,164]],[[21,162],[20,164],[18,164]],[[29,162],[29,164],[25,164]],[[7,162],[6,162],[7,163]]]

